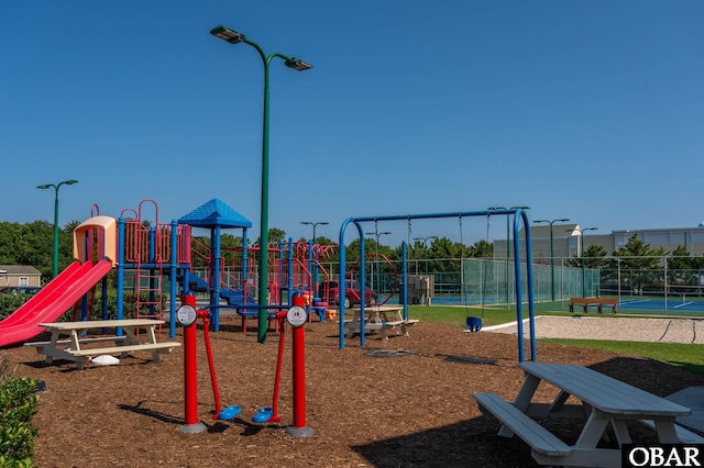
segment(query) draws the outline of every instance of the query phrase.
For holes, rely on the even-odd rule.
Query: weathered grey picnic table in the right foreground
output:
[[[675,424],[689,408],[654,395],[593,369],[575,365],[520,363],[524,383],[512,403],[495,393],[474,393],[480,409],[496,416],[503,426],[498,435],[518,435],[542,465],[619,467],[620,450],[596,448],[610,424],[619,447],[630,444],[628,422],[656,430],[661,444],[704,443],[704,438]],[[548,382],[560,391],[550,403],[532,402],[538,385]],[[568,404],[570,397],[581,404]],[[569,445],[538,424],[536,417],[586,419],[580,436]]]

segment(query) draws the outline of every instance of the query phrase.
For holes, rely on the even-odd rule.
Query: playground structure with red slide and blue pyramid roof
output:
[[[144,218],[152,204],[154,220]],[[318,275],[329,276],[319,258],[330,256],[330,246],[311,243],[280,243],[267,248],[271,261],[266,281],[270,287],[267,304],[256,303],[260,276],[254,258],[261,247],[248,247],[246,230],[252,223],[234,210],[213,199],[178,221],[158,221],[158,207],[151,199],[138,209],[125,209],[119,219],[100,215],[91,207],[91,218],[74,230],[74,261],[9,317],[0,322],[0,346],[21,343],[38,335],[38,323],[56,321],[74,311],[74,320],[90,320],[95,292],[101,288],[101,320],[110,315],[108,304],[108,272],[116,269],[117,304],[114,317],[123,320],[163,320],[165,309],[175,316],[176,299],[182,292],[195,290],[208,293],[212,326],[220,326],[220,309],[234,309],[242,316],[258,314],[264,309],[270,317],[293,294],[304,291],[312,298]],[[193,235],[193,229],[209,229],[210,245]],[[223,261],[220,235],[224,229],[242,230],[242,247],[227,252],[230,264]],[[196,270],[198,267],[198,275]],[[165,293],[168,291],[168,293]],[[168,297],[168,303],[167,303]],[[221,304],[224,301],[224,304]],[[308,312],[326,316],[324,303],[309,301]],[[270,308],[271,307],[271,308]],[[169,337],[176,336],[176,321],[169,320]]]

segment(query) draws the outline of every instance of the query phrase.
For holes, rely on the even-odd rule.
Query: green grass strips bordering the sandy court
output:
[[[541,308],[542,309],[542,308]],[[528,317],[528,308],[522,310],[524,319]],[[566,311],[559,310],[538,310],[536,307],[536,315],[564,315],[572,316]],[[466,316],[479,316],[482,319],[483,326],[498,325],[502,323],[515,322],[516,310],[507,309],[488,309],[485,308],[462,308],[462,307],[425,307],[411,305],[408,308],[408,316],[428,322],[443,323],[464,328]],[[615,317],[623,315],[603,315],[606,317]],[[704,353],[702,345],[679,344],[679,343],[646,343],[646,342],[612,342],[604,339],[561,339],[561,338],[542,338],[544,343],[558,343],[566,346],[574,346],[590,349],[603,349],[614,353],[630,354],[650,359],[660,360],[681,367],[694,374],[704,375]]]

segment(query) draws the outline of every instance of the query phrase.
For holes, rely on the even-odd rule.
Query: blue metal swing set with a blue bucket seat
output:
[[[339,260],[339,275],[340,278],[344,278],[345,277],[345,248],[342,248],[345,244],[344,244],[344,235],[346,232],[346,229],[350,224],[353,224],[354,226],[356,226],[356,231],[358,234],[360,236],[360,259],[361,259],[361,265],[360,265],[360,285],[361,285],[361,296],[364,297],[365,294],[365,282],[366,282],[366,278],[365,278],[365,259],[366,259],[366,253],[365,253],[365,245],[364,245],[364,238],[365,238],[365,233],[364,233],[364,229],[363,229],[363,224],[364,223],[370,223],[373,222],[374,225],[376,226],[377,223],[380,221],[404,221],[406,220],[408,222],[408,241],[404,241],[402,243],[402,254],[403,254],[403,261],[402,261],[402,278],[403,278],[403,289],[400,292],[400,302],[403,304],[404,308],[404,312],[403,312],[403,316],[404,320],[408,320],[408,294],[407,294],[407,276],[408,276],[408,265],[407,265],[407,248],[408,248],[408,244],[410,244],[410,231],[411,231],[411,220],[429,220],[429,219],[447,219],[447,218],[457,218],[460,220],[460,236],[462,236],[462,219],[463,218],[471,218],[471,216],[486,216],[486,236],[487,236],[487,242],[488,242],[488,227],[490,227],[490,218],[492,215],[498,215],[498,214],[503,214],[506,216],[510,216],[514,215],[514,252],[516,253],[516,255],[514,256],[514,263],[515,263],[515,288],[516,288],[516,298],[521,298],[521,271],[520,271],[520,243],[519,243],[519,229],[520,229],[520,222],[522,221],[522,225],[526,232],[526,236],[525,236],[525,249],[526,249],[526,283],[528,285],[528,317],[529,317],[529,334],[530,334],[530,360],[537,360],[537,346],[536,346],[536,334],[535,334],[535,308],[534,308],[534,292],[532,292],[532,268],[531,268],[531,263],[532,263],[532,254],[531,254],[531,248],[530,248],[530,229],[529,229],[529,222],[528,222],[528,216],[526,214],[526,212],[524,211],[524,209],[521,208],[513,208],[513,209],[502,209],[502,210],[484,210],[484,211],[463,211],[463,212],[450,212],[450,213],[426,213],[426,214],[405,214],[405,215],[389,215],[389,216],[361,216],[361,218],[348,218],[346,220],[344,220],[342,222],[342,225],[340,226],[340,260]],[[463,243],[463,239],[461,238],[460,242]],[[485,276],[485,275],[483,275]],[[484,281],[484,280],[483,280]],[[344,297],[345,297],[345,288],[344,288],[344,281],[340,282],[340,290],[339,290],[339,303],[340,303],[340,342],[339,342],[339,347],[340,349],[344,349],[344,320],[342,320],[342,317],[344,317],[345,314],[345,308],[344,308]],[[462,294],[462,297],[464,298],[464,293]],[[483,296],[482,296],[483,298]],[[463,302],[465,302],[463,300]],[[465,310],[466,310],[466,303],[464,303]],[[365,309],[365,304],[364,301],[362,301],[362,303],[360,304],[361,311],[360,311],[360,346],[364,347],[365,346],[365,313],[364,313],[364,309]],[[481,326],[482,326],[482,319],[484,315],[484,299],[482,299],[482,317],[474,317],[474,316],[466,316],[466,325],[468,325],[468,330],[470,331],[480,331]],[[524,330],[522,330],[522,304],[520,300],[516,301],[516,321],[517,321],[517,327],[518,327],[518,361],[522,363],[525,360],[525,353],[524,353]],[[472,330],[472,328],[474,330]]]

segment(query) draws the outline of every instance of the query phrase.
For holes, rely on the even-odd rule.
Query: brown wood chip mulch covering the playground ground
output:
[[[242,333],[237,316],[223,316],[210,333],[222,406],[242,406],[231,421],[213,421],[215,399],[204,332],[198,330],[198,412],[206,432],[184,434],[183,349],[152,363],[134,353],[118,366],[77,370],[67,361],[44,364],[35,349],[0,350],[16,375],[45,382],[34,419],[38,467],[532,467],[529,447],[497,437],[498,423],[484,416],[473,392],[518,392],[515,336],[465,333],[420,322],[410,336],[359,335],[339,349],[333,321],[305,325],[306,426],[310,437],[292,437],[294,424],[292,334],[285,334],[278,424],[255,424],[252,415],[271,406],[279,337],[265,344],[256,330]],[[164,330],[162,339],[166,339]],[[38,337],[37,339],[41,339]],[[176,341],[183,342],[180,328]],[[393,353],[383,353],[388,350]],[[526,356],[529,349],[526,347]],[[636,356],[553,344],[538,345],[538,360],[579,364],[659,395],[704,386],[704,376]],[[538,397],[556,390],[541,383]],[[579,421],[547,422],[566,442]],[[637,442],[654,442],[652,431],[632,428]]]

